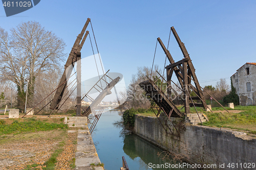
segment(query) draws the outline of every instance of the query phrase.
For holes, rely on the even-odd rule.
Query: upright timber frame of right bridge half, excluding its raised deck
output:
[[[170,55],[169,51],[164,46],[162,40],[160,38],[157,38],[159,44],[163,48],[163,51],[170,62],[170,64],[165,67],[167,82],[168,84],[171,84],[173,72],[175,72],[176,77],[178,78],[178,81],[182,87],[183,94],[185,96],[184,108],[186,114],[189,113],[189,107],[198,106],[206,109],[207,105],[204,99],[203,91],[199,85],[194,65],[189,57],[186,47],[184,43],[180,40],[180,37],[178,36],[174,27],[171,27],[170,29],[172,30],[174,37],[176,38],[176,41],[179,44],[180,50],[184,58],[178,62],[174,62],[172,55]],[[195,82],[196,87],[193,84],[191,84],[191,79],[193,79],[193,81]],[[190,96],[189,92],[191,90],[194,91],[197,96]],[[168,89],[168,96],[170,96],[171,93],[172,91]],[[193,100],[198,100],[200,101],[200,103],[194,103]]]

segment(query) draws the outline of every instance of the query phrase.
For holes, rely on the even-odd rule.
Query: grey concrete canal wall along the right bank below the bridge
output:
[[[162,123],[165,128],[170,125],[169,121]],[[175,131],[174,127],[170,128]],[[256,139],[243,132],[191,125],[184,128],[177,137],[166,133],[156,117],[136,116],[134,133],[164,150],[185,155],[191,163],[227,165],[256,162]]]

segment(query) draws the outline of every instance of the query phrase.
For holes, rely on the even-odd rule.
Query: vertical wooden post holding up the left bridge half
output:
[[[77,71],[77,93],[76,93],[76,116],[81,116],[81,53],[76,54],[76,71]]]

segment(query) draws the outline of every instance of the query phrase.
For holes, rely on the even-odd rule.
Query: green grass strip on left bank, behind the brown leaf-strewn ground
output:
[[[18,134],[23,132],[50,131],[54,129],[65,129],[67,125],[41,122],[34,118],[27,119],[26,122],[18,122],[13,120],[11,125],[5,124],[5,121],[0,120],[0,136],[4,134]]]

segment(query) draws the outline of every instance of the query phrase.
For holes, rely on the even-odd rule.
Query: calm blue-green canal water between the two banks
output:
[[[162,156],[159,157],[159,153],[162,153],[163,150],[156,145],[137,135],[124,133],[120,121],[119,111],[105,112],[101,115],[96,129],[92,133],[99,159],[104,163],[105,169],[120,169],[122,156],[125,157],[130,170],[181,169],[172,168],[173,162],[163,160]],[[153,165],[161,164],[166,166],[168,164],[170,168],[153,168]]]

